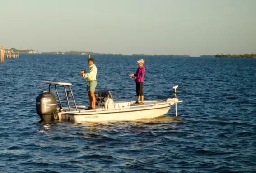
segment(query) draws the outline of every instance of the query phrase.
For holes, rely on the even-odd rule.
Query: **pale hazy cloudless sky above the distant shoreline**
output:
[[[5,49],[256,53],[256,0],[0,0]]]

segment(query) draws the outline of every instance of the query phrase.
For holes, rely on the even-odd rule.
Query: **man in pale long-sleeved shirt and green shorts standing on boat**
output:
[[[87,81],[86,90],[88,92],[89,100],[90,100],[90,107],[86,110],[93,110],[96,109],[96,98],[94,95],[95,88],[97,85],[96,76],[97,76],[97,67],[94,64],[95,60],[93,58],[88,59],[89,67],[86,69],[86,73],[84,70],[80,72],[80,76],[84,77]]]

